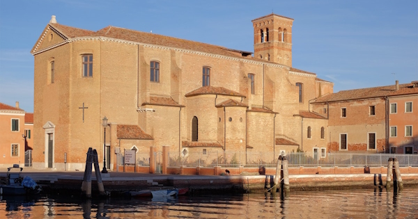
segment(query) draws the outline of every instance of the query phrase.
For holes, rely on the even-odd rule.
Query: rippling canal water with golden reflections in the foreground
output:
[[[171,200],[1,197],[0,218],[418,218],[418,186],[181,196]]]

